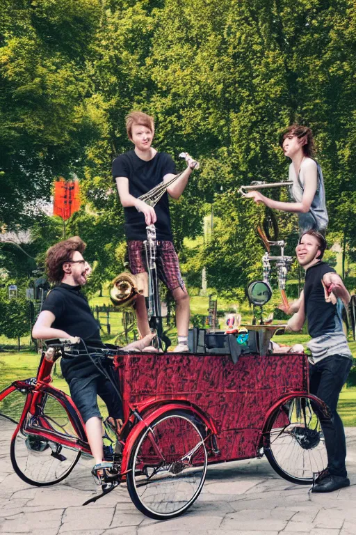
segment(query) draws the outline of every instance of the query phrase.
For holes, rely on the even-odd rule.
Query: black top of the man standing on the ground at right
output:
[[[325,293],[321,279],[325,273],[336,273],[325,262],[308,267],[305,274],[304,298],[308,332],[312,338],[342,330],[341,318],[337,304],[325,302]]]

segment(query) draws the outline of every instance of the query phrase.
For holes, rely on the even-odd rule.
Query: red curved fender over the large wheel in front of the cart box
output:
[[[192,414],[195,414],[199,419],[203,421],[203,423],[207,427],[211,429],[214,435],[217,434],[216,428],[212,424],[212,422],[204,414],[202,414],[200,410],[196,409],[192,405],[185,405],[184,403],[179,402],[169,403],[168,405],[161,405],[161,407],[148,414],[147,417],[144,417],[142,421],[139,421],[138,424],[136,424],[136,426],[134,426],[131,430],[131,433],[127,437],[127,441],[125,442],[124,451],[122,453],[121,474],[127,472],[127,465],[129,464],[131,450],[140,433],[142,433],[145,428],[149,427],[156,418],[158,418],[165,412],[169,412],[170,410],[184,410],[185,412],[191,412]]]

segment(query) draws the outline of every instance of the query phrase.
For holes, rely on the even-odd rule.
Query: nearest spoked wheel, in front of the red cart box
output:
[[[181,515],[200,495],[207,474],[202,433],[189,414],[169,412],[138,437],[131,452],[127,488],[145,515]]]

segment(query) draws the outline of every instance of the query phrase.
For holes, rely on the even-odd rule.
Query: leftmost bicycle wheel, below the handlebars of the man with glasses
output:
[[[37,409],[35,416],[26,414],[24,424],[11,439],[10,458],[23,481],[49,486],[63,481],[72,472],[81,451],[74,447],[78,436],[54,394],[43,394]],[[46,432],[54,436],[41,436]]]

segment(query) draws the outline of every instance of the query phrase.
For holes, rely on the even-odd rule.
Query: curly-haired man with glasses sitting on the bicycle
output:
[[[77,343],[80,339],[90,348],[105,348],[100,338],[99,324],[90,310],[81,286],[87,282],[90,265],[83,258],[86,244],[79,238],[69,238],[50,247],[46,254],[49,281],[57,286],[47,295],[32,335],[36,339],[64,338]],[[133,342],[125,349],[144,350],[154,334]],[[149,348],[154,350],[154,348]],[[72,399],[86,424],[86,434],[95,466],[92,474],[99,480],[105,463],[102,440],[102,416],[97,405],[97,395],[106,403],[109,421],[115,428],[122,426],[122,405],[115,387],[104,377],[86,355],[61,359],[63,377],[70,387]]]

